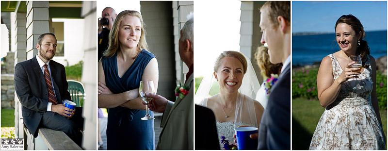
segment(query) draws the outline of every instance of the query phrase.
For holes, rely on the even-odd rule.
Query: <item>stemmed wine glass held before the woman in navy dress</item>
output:
[[[150,120],[155,119],[154,117],[149,116],[148,102],[152,100],[152,98],[146,97],[146,93],[155,94],[154,82],[153,81],[140,81],[139,86],[139,95],[144,102],[146,102],[146,111],[147,114],[145,117],[141,118],[142,120]]]

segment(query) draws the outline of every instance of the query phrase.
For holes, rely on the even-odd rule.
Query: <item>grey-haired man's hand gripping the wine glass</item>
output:
[[[148,108],[151,111],[163,113],[166,109],[166,105],[168,100],[160,95],[146,93],[146,97],[152,98],[151,101],[148,102]],[[146,105],[146,102],[143,101],[143,104]]]

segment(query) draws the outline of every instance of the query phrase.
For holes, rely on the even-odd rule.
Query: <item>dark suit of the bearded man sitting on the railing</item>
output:
[[[53,60],[49,61],[52,85],[58,104],[62,100],[71,100],[67,91],[65,67]],[[81,146],[83,124],[81,108],[76,108],[70,119],[58,113],[48,112],[47,84],[39,67],[36,56],[30,60],[20,62],[15,66],[15,91],[22,106],[23,121],[34,137],[38,136],[38,128],[44,127],[65,132],[74,142]],[[54,104],[52,104],[54,105]],[[76,123],[80,123],[77,126]]]

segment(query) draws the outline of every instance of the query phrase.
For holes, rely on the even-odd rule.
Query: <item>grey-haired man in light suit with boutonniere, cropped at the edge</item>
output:
[[[153,98],[148,104],[151,111],[163,112],[157,150],[194,150],[194,51],[193,51],[193,27],[194,16],[188,15],[188,20],[180,31],[179,56],[190,67],[184,84],[185,90],[189,90],[177,101],[168,101],[157,94],[146,94]],[[143,104],[145,104],[143,102]]]

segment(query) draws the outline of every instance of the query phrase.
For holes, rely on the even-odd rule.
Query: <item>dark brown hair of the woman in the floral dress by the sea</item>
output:
[[[361,56],[362,65],[365,66],[364,63],[366,62],[366,58],[371,53],[371,51],[368,46],[368,42],[363,40],[363,38],[365,38],[364,26],[362,26],[360,20],[358,20],[358,18],[352,14],[342,15],[339,17],[336,22],[336,26],[334,26],[335,30],[337,30],[337,25],[339,23],[345,23],[349,25],[356,32],[356,35],[361,32],[360,45],[357,47],[356,54]]]

